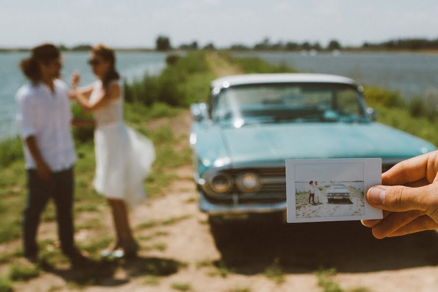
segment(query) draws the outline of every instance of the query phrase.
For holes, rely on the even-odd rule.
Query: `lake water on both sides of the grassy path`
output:
[[[308,53],[239,52],[238,56],[258,56],[271,63],[286,63],[301,72],[332,73],[351,77],[363,85],[398,90],[405,97],[438,91],[438,54],[413,53]],[[0,53],[0,138],[17,132],[15,93],[26,82],[19,61],[28,53]],[[69,81],[73,70],[81,73],[81,84],[95,80],[87,52],[63,53],[62,76]],[[145,72],[156,74],[165,67],[165,53],[118,52],[117,69],[122,78],[140,78]]]

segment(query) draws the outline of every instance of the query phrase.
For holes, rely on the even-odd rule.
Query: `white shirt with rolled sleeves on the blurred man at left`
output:
[[[72,138],[72,111],[67,85],[62,80],[54,81],[54,91],[40,82],[26,84],[17,91],[17,121],[23,141],[35,136],[42,157],[52,171],[61,171],[76,162]],[[36,168],[29,149],[23,143],[26,168]]]

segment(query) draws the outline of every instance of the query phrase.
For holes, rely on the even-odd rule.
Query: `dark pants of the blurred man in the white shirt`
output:
[[[72,217],[73,182],[73,168],[52,173],[48,181],[40,180],[34,169],[27,171],[28,195],[23,220],[25,256],[36,256],[38,253],[36,235],[39,219],[50,198],[53,198],[56,205],[58,237],[62,252],[67,256],[75,252]]]

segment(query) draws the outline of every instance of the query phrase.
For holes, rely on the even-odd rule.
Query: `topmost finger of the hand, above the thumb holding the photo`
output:
[[[382,174],[382,184],[401,185],[425,178],[430,156],[431,153],[426,153],[394,165]]]

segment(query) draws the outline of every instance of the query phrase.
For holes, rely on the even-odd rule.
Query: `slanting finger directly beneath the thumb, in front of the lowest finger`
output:
[[[411,221],[423,216],[425,213],[419,210],[406,212],[393,212],[379,224],[373,227],[373,235],[376,238],[384,238],[400,229]]]

